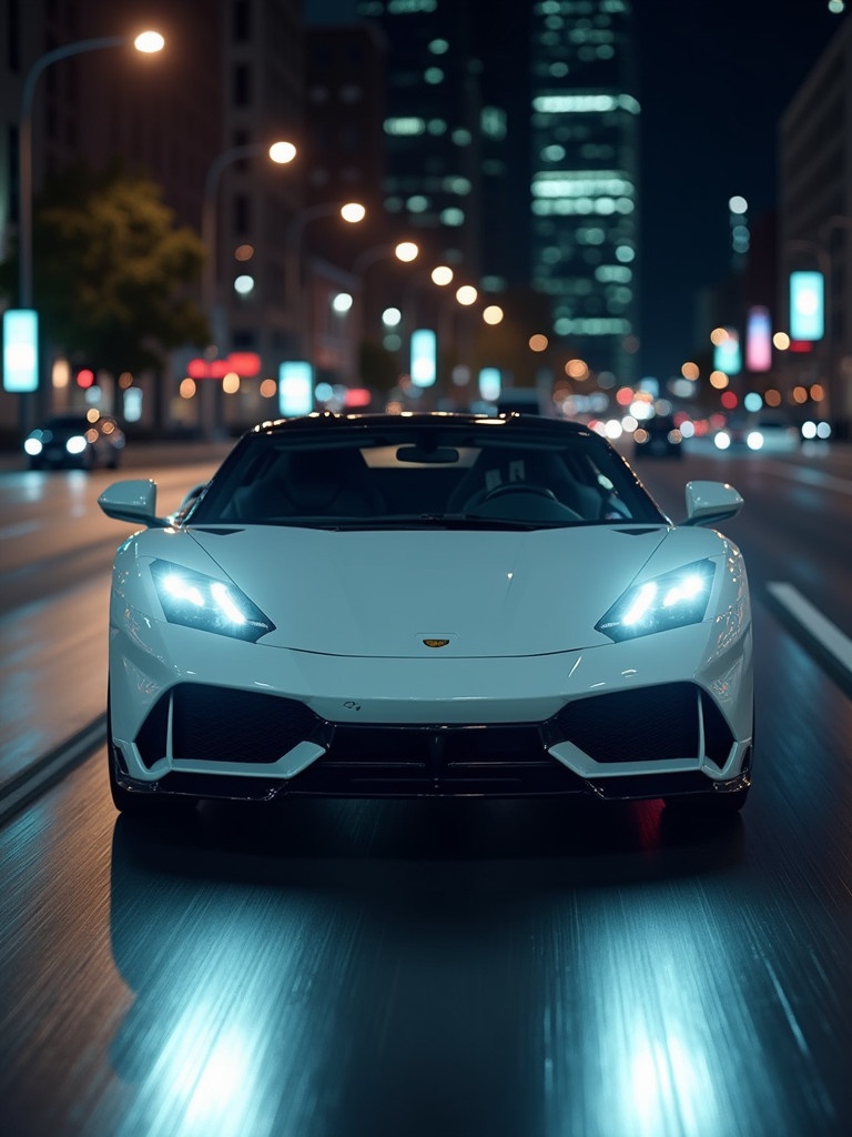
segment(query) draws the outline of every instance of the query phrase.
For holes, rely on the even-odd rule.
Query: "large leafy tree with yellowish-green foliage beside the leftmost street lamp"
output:
[[[33,210],[33,298],[47,340],[72,359],[119,374],[159,370],[167,352],[209,342],[191,287],[204,247],[175,229],[157,183],[114,167],[68,171]],[[15,259],[0,287],[14,296]]]

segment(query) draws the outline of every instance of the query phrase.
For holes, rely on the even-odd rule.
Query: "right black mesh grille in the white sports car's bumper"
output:
[[[563,707],[550,728],[556,736],[551,745],[574,742],[595,762],[694,757],[700,741],[698,688],[666,683],[578,699]]]

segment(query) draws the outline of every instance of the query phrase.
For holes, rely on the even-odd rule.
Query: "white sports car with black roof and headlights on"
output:
[[[99,498],[118,549],[119,810],[278,795],[745,802],[752,621],[730,485],[675,524],[573,422],[262,423],[176,514]],[[704,526],[704,528],[702,528]]]

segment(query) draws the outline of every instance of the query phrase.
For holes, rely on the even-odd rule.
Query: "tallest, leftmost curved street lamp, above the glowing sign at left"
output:
[[[18,306],[32,307],[33,302],[33,101],[35,84],[41,73],[51,64],[84,51],[100,51],[102,48],[120,48],[133,43],[136,51],[151,55],[161,51],[166,41],[159,32],[142,32],[140,35],[106,35],[94,40],[78,40],[45,52],[32,65],[24,80],[18,123],[18,184],[19,184],[19,236],[18,236]]]

